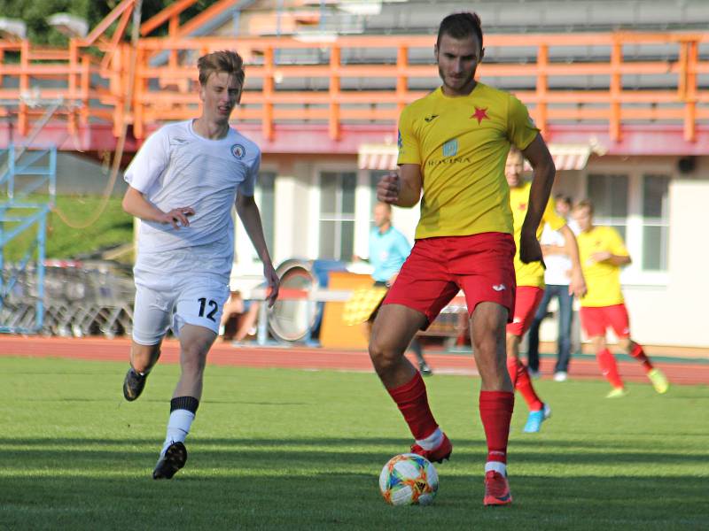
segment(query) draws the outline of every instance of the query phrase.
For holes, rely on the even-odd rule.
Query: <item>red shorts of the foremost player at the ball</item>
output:
[[[382,304],[401,304],[433,322],[460,289],[470,315],[482,302],[515,305],[515,242],[504,233],[417,240]]]

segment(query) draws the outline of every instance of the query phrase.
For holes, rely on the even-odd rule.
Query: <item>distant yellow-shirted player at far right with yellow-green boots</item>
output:
[[[581,231],[577,241],[581,267],[588,281],[588,294],[580,300],[581,327],[593,343],[601,372],[613,388],[608,398],[627,395],[615,358],[605,342],[605,331],[609,327],[618,337],[620,348],[643,364],[655,390],[666,393],[669,384],[665,374],[652,366],[643,347],[630,339],[627,308],[620,290],[620,268],[630,264],[630,256],[622,238],[612,227],[593,224],[593,204],[588,200],[573,207],[573,219]]]

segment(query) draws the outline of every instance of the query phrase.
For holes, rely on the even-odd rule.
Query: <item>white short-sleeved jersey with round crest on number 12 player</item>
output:
[[[234,259],[231,208],[237,191],[253,196],[261,165],[258,146],[229,128],[220,140],[192,130],[192,121],[161,127],[138,150],[124,174],[129,185],[162,212],[191,206],[189,227],[142,220],[136,273],[230,275]]]

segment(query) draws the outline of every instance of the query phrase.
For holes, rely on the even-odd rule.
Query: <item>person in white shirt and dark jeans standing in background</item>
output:
[[[557,196],[556,210],[564,219],[568,219],[571,212],[571,197]],[[568,226],[573,234],[579,233],[578,225],[571,220]],[[557,365],[554,367],[554,380],[565,381],[569,372],[571,359],[571,325],[573,318],[573,294],[569,293],[571,282],[572,263],[566,247],[564,235],[545,226],[540,238],[541,252],[547,266],[544,272],[546,288],[541,298],[541,303],[534,315],[532,326],[529,328],[527,338],[527,363],[530,373],[539,374],[539,327],[547,315],[549,302],[556,297],[558,302],[558,336],[557,336]]]

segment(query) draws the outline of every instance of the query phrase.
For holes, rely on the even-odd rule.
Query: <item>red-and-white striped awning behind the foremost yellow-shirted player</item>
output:
[[[557,172],[582,170],[593,151],[593,146],[589,144],[549,144]],[[394,170],[398,154],[395,144],[362,144],[357,165],[361,170]],[[532,169],[528,163],[525,167],[526,170]]]

